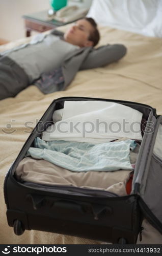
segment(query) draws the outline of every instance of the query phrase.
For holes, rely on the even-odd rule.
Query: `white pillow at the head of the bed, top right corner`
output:
[[[87,16],[103,26],[162,37],[162,0],[93,0]]]

